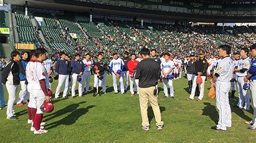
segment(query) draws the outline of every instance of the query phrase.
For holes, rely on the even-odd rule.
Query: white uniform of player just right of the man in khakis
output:
[[[163,60],[162,63],[160,64],[160,68],[161,70],[164,71],[164,73],[168,73],[170,70],[173,71],[173,69],[175,68],[174,62],[172,62],[172,60]],[[169,73],[169,75],[172,74],[172,71]],[[169,85],[170,88],[170,96],[174,97],[174,86],[172,85],[172,80],[170,79],[166,79],[164,77],[164,75],[162,75],[163,77],[163,88],[164,88],[164,96],[168,97],[168,88],[167,88],[167,83]]]

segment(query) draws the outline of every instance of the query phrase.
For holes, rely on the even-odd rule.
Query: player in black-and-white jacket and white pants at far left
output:
[[[9,94],[7,103],[7,118],[10,120],[18,119],[15,115],[13,104],[15,101],[15,95],[19,85],[19,62],[20,54],[18,51],[11,52],[11,61],[7,63],[2,71],[2,83],[6,84],[6,89]]]

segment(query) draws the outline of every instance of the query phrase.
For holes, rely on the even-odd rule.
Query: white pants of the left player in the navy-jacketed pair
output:
[[[67,96],[68,93],[68,78],[69,75],[59,75],[59,82],[56,88],[56,93],[55,93],[55,98],[59,97],[60,94],[60,88],[64,84],[64,92],[63,92],[63,97]]]

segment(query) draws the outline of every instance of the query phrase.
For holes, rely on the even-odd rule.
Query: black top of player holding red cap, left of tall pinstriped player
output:
[[[201,76],[207,76],[208,62],[207,59],[197,59],[194,63],[194,70],[197,76],[197,72],[202,72]]]

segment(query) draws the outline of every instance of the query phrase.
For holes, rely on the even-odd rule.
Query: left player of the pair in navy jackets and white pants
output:
[[[60,59],[56,62],[56,72],[59,74],[59,82],[56,88],[55,98],[59,99],[60,88],[64,84],[63,98],[68,98],[68,82],[69,82],[69,61],[66,60],[66,54],[60,53]]]

